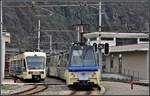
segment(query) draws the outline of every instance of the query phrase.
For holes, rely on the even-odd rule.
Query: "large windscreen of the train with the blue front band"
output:
[[[70,66],[96,66],[96,58],[93,48],[73,49]]]

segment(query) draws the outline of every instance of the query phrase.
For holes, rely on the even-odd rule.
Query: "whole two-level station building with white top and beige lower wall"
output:
[[[144,33],[92,32],[84,37],[92,45],[109,43],[109,56],[103,55],[102,72],[149,80],[149,37]],[[102,50],[104,51],[104,50]]]

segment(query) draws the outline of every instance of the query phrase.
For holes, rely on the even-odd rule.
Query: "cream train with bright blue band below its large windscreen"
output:
[[[49,75],[66,80],[68,86],[99,85],[101,70],[91,45],[73,44],[69,53],[50,57]]]

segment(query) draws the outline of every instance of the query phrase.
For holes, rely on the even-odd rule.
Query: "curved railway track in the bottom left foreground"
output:
[[[33,95],[33,94],[37,94],[39,92],[42,92],[44,90],[46,90],[48,88],[48,85],[46,84],[34,84],[32,88],[29,88],[27,90],[21,91],[21,92],[17,92],[17,93],[13,93],[10,95]]]

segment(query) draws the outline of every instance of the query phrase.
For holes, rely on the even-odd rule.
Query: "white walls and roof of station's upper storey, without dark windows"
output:
[[[90,44],[99,43],[99,33],[89,33],[85,34],[84,36],[89,39]],[[90,40],[91,38],[96,38],[96,40]],[[116,38],[133,38],[137,39],[137,44],[147,43],[148,41],[140,41],[140,38],[148,38],[148,35],[143,33],[109,33],[103,32],[101,33],[101,38],[113,38],[113,40],[101,40],[102,44],[109,43],[110,46],[116,46]]]

